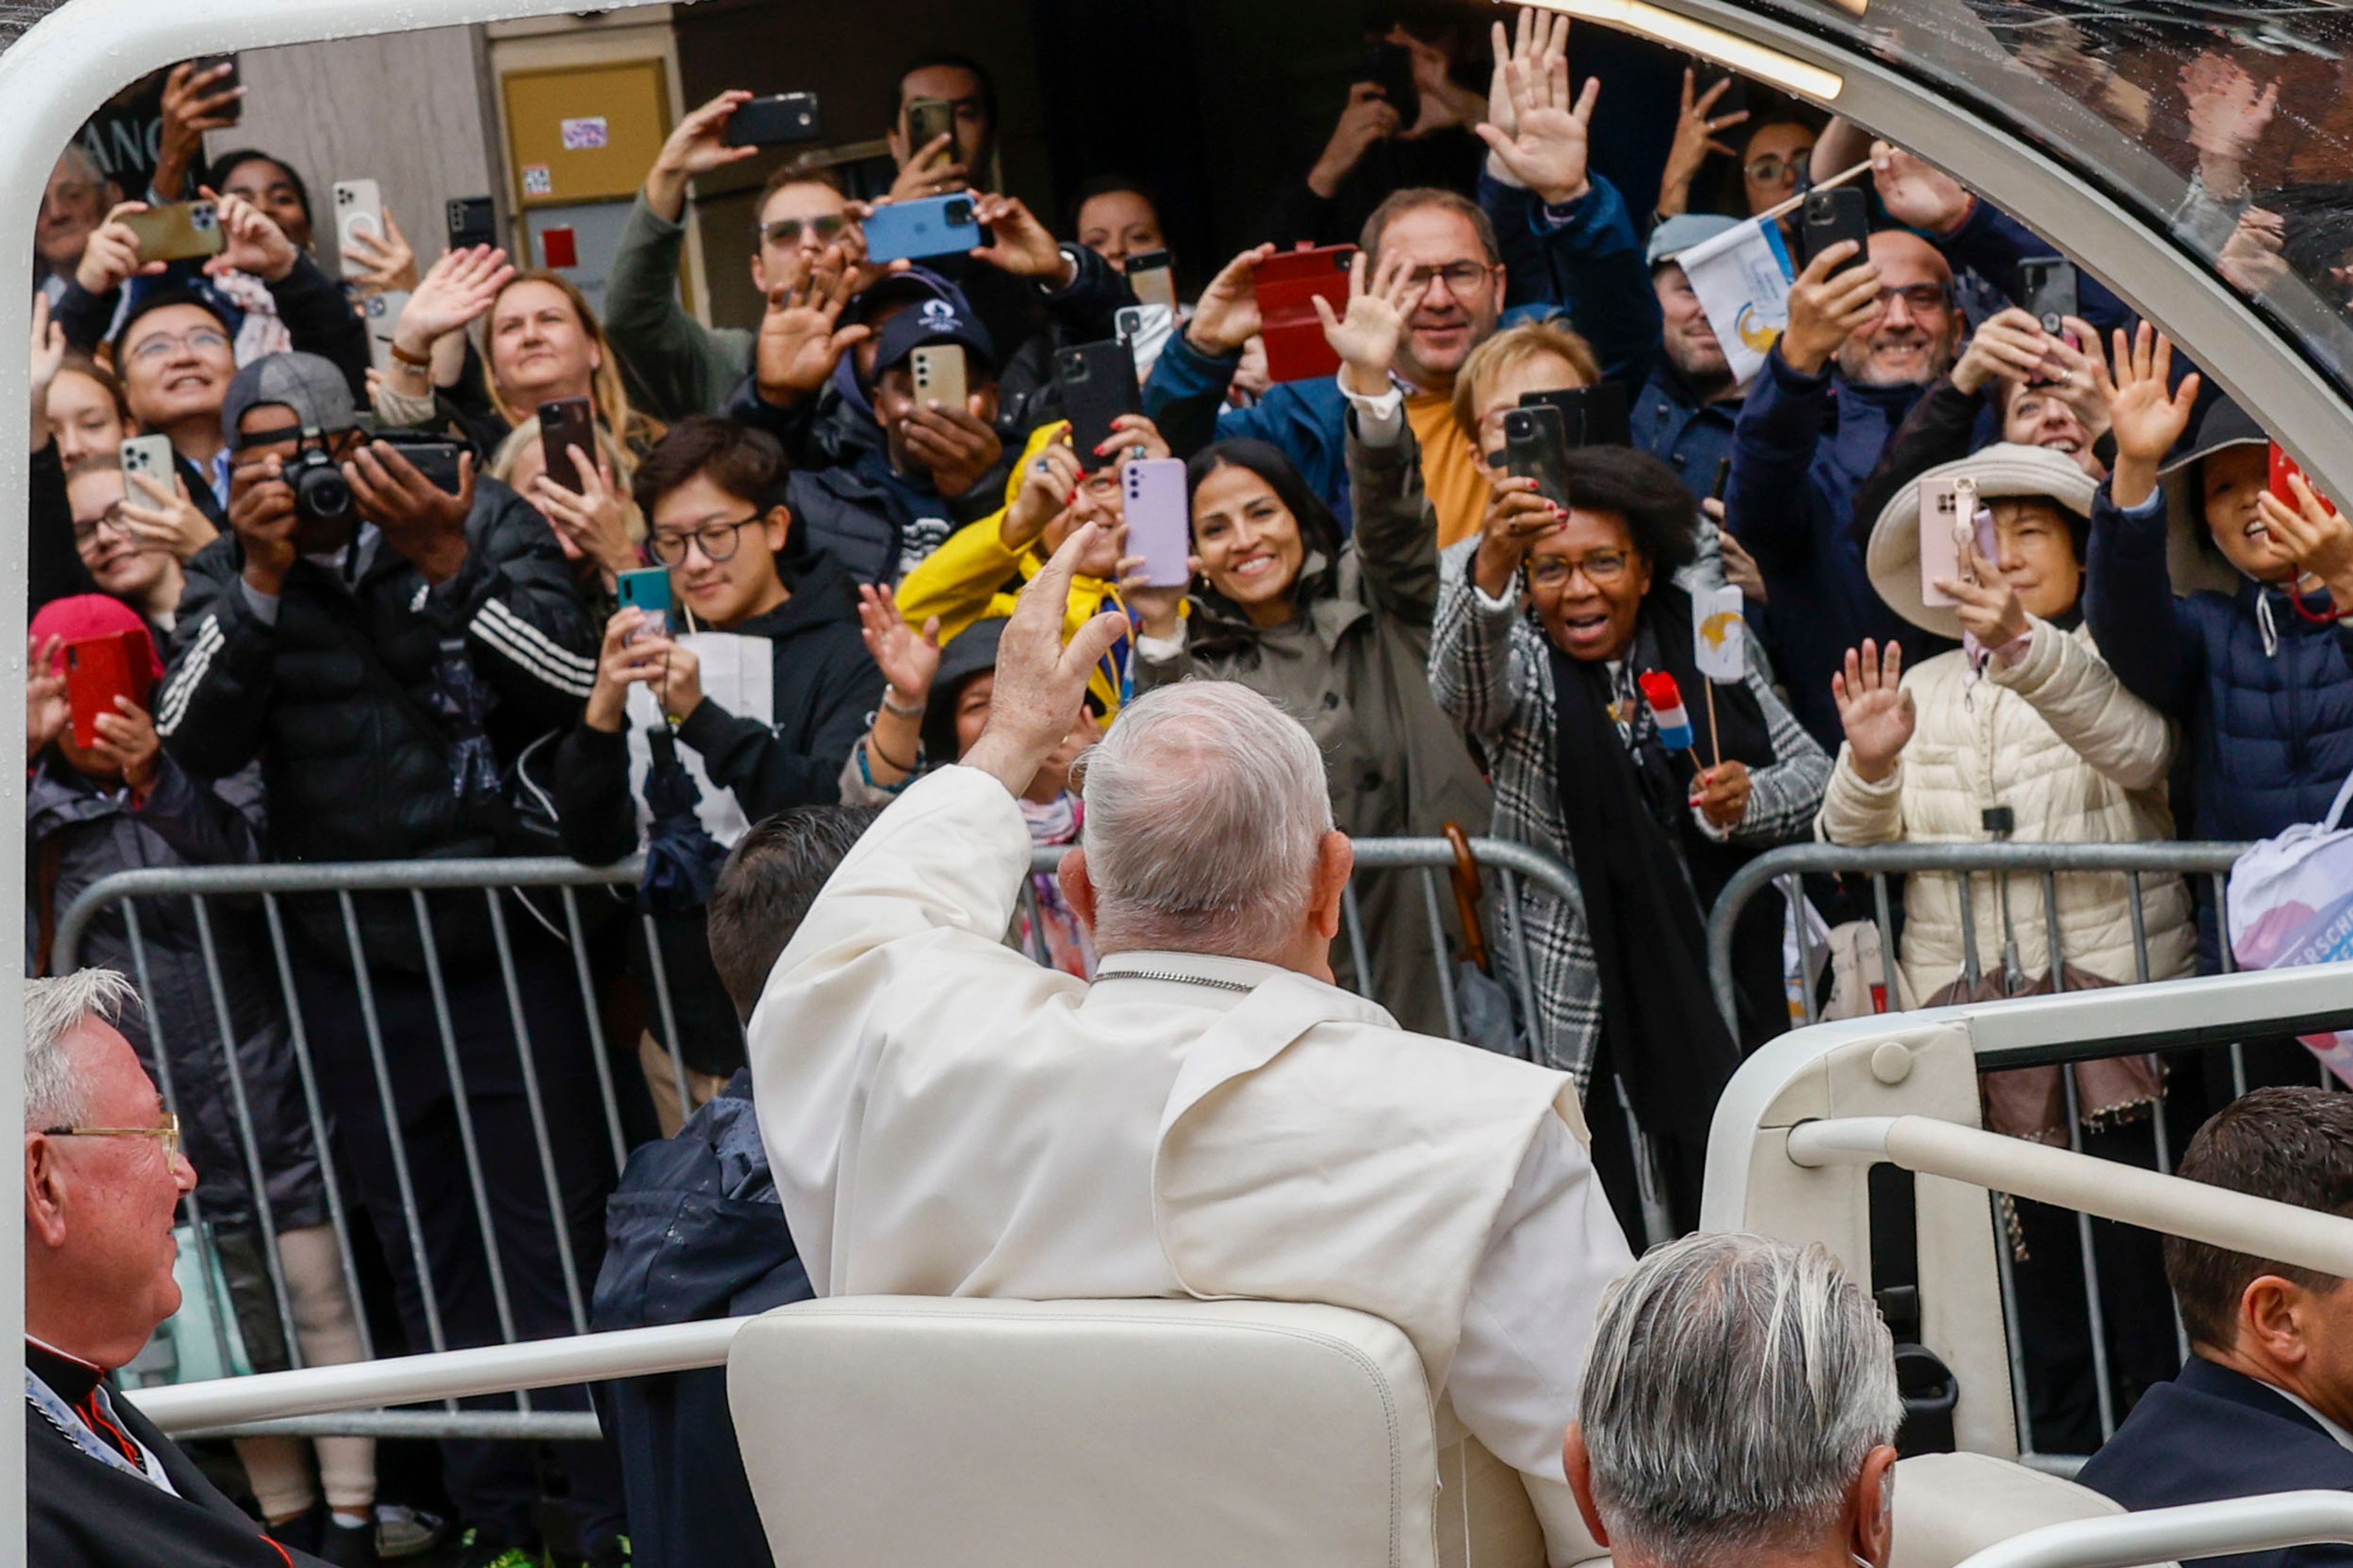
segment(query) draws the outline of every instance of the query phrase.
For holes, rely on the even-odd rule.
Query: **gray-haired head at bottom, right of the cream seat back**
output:
[[[1901,1415],[1826,1248],[1685,1237],[1602,1298],[1562,1460],[1617,1568],[1887,1568]]]

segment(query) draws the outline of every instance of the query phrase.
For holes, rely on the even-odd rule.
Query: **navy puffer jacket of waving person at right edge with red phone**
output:
[[[2353,623],[2308,621],[2254,581],[2177,599],[2165,527],[2162,491],[2122,512],[2099,489],[2085,621],[2125,686],[2184,729],[2191,835],[2320,820],[2353,773]],[[2304,604],[2329,614],[2325,592]]]

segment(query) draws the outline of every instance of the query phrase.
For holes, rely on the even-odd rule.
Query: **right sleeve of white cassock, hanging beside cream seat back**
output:
[[[1560,1441],[1577,1415],[1602,1288],[1631,1267],[1593,1161],[1560,1117],[1546,1117],[1471,1276],[1447,1399],[1487,1453],[1520,1472],[1553,1568],[1588,1540]]]

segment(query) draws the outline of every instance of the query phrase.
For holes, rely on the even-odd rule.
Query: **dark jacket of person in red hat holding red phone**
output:
[[[26,778],[24,806],[26,891],[33,905],[28,933],[47,931],[89,884],[115,872],[242,865],[261,858],[261,778],[252,769],[200,785],[165,757],[155,792],[134,811],[122,790],[75,773],[52,748]],[[191,900],[139,900],[139,954],[132,952],[122,905],[108,905],[82,931],[75,966],[113,969],[146,983],[146,1006],[125,1009],[120,1025],[155,1081],[172,1086],[188,1159],[202,1178],[202,1215],[226,1229],[259,1225],[247,1147],[238,1135],[235,1093],[242,1088],[254,1128],[249,1152],[261,1161],[271,1218],[278,1229],[320,1225],[327,1211],[318,1143],[275,1001],[268,938],[256,929],[259,917],[233,900],[214,898],[207,912],[221,966],[221,1004],[238,1041],[235,1084],[221,1051],[221,1011],[205,978],[205,947]],[[42,957],[56,969],[54,954],[35,954]],[[162,1072],[155,1060],[158,1037]]]

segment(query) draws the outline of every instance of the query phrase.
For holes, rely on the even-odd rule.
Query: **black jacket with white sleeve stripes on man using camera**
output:
[[[504,769],[569,726],[595,679],[598,632],[546,520],[496,480],[478,482],[466,545],[440,585],[381,538],[348,585],[336,567],[299,559],[273,618],[242,583],[235,534],[188,562],[155,729],[198,778],[261,759],[278,860],[525,846],[496,788],[456,788],[459,757],[478,731]],[[365,896],[360,910],[372,961],[421,966],[405,896]],[[311,914],[294,924],[315,952],[348,964],[334,905]],[[487,924],[473,893],[435,900],[442,964],[489,964]]]

